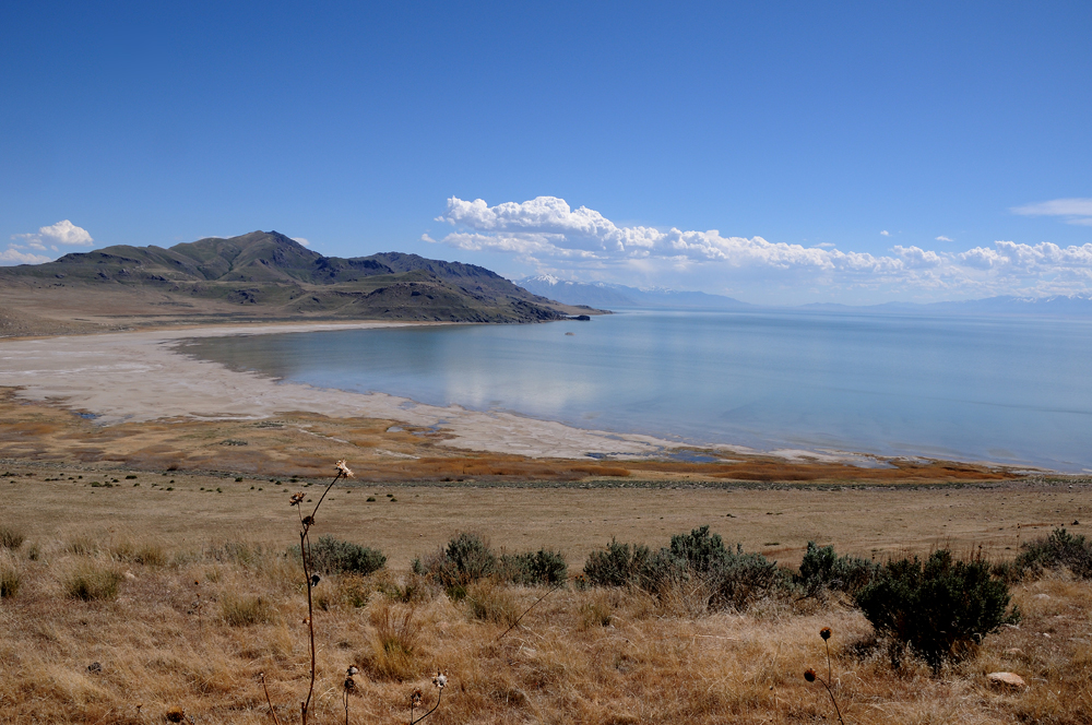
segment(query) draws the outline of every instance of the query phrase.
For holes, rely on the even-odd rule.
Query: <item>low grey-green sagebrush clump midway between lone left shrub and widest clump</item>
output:
[[[466,532],[439,551],[414,559],[413,571],[431,577],[455,598],[462,598],[470,584],[487,578],[513,584],[558,585],[569,575],[559,551],[539,549],[497,556],[484,538]]]

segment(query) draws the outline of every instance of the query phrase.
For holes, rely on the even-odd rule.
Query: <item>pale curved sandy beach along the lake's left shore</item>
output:
[[[530,457],[649,456],[676,447],[646,436],[571,428],[508,413],[437,407],[382,393],[277,382],[185,355],[187,338],[396,326],[392,322],[217,325],[0,342],[0,387],[95,416],[97,423],[164,418],[260,419],[285,412],[368,417],[435,427],[443,444]]]

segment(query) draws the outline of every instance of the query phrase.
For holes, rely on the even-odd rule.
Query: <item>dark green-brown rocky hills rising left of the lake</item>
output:
[[[538,322],[597,311],[473,264],[400,252],[323,257],[276,231],[0,268],[0,334],[187,321]]]

